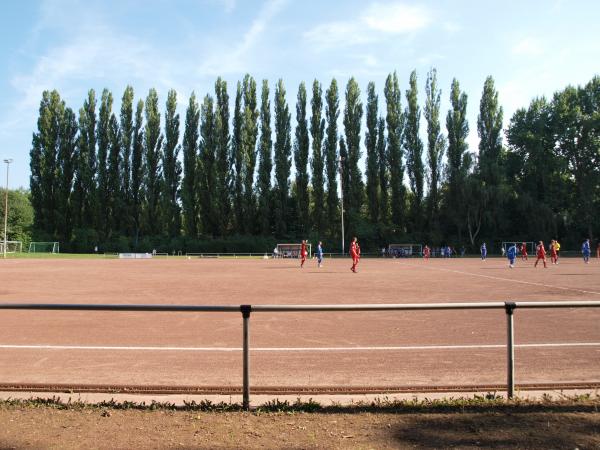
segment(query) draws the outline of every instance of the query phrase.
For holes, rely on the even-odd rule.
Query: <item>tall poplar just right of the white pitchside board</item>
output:
[[[181,234],[181,211],[179,207],[179,183],[181,163],[179,162],[179,114],[177,114],[177,93],[170,90],[167,96],[165,113],[165,142],[162,152],[162,225],[167,236]]]

